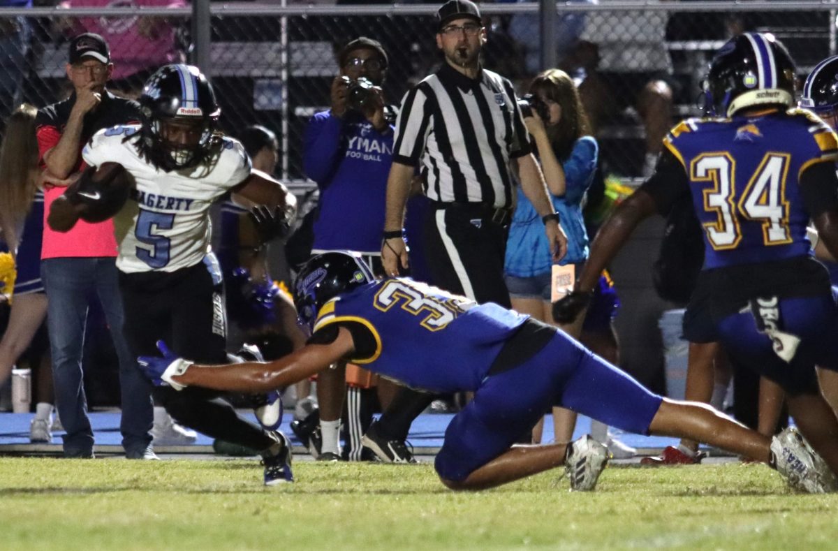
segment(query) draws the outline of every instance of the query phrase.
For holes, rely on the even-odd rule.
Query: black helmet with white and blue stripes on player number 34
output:
[[[704,92],[711,116],[732,116],[752,106],[793,106],[794,60],[773,34],[740,34],[711,60]]]

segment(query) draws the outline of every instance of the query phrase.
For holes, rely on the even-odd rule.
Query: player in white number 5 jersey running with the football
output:
[[[198,68],[164,66],[139,102],[142,124],[100,131],[82,152],[100,173],[118,163],[136,181],[114,217],[128,343],[135,356],[155,353],[158,339],[165,339],[178,356],[224,362],[226,314],[220,269],[209,249],[209,207],[225,193],[288,211],[296,199],[251,168],[240,142],[220,133],[215,92]],[[96,182],[97,175],[89,178]],[[51,209],[55,229],[75,224],[100,198],[85,193],[81,202],[73,193],[78,188]],[[155,398],[178,423],[260,451],[267,485],[292,481],[287,438],[243,420],[217,393],[159,388]]]

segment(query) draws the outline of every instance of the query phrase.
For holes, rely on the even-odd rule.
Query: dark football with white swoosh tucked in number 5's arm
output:
[[[110,219],[122,209],[135,182],[131,173],[116,162],[90,167],[49,209],[47,224],[55,231],[70,231],[78,219],[96,223]]]

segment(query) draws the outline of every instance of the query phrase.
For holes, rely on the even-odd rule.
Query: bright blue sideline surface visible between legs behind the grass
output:
[[[242,410],[243,415],[252,417],[250,411]],[[30,444],[29,443],[29,421],[34,414],[0,413],[0,454],[8,455],[59,455],[61,453],[61,435],[63,432],[53,434],[51,444]],[[94,451],[98,455],[122,454],[122,435],[119,433],[120,412],[118,410],[94,411],[90,414],[91,424],[96,438]],[[418,456],[432,456],[442,446],[442,437],[452,414],[423,414],[420,415],[411,426],[408,440],[413,446],[414,453]],[[295,453],[305,453],[303,445],[297,440],[288,424],[292,420],[292,412],[287,411],[285,420],[282,422],[281,430],[291,437]],[[587,417],[579,416],[574,439],[589,432],[591,421]],[[673,438],[661,438],[657,436],[641,436],[614,431],[620,440],[625,444],[638,449],[640,455],[656,455],[663,451],[667,445],[677,445],[678,440]],[[553,440],[552,420],[546,419],[542,441]],[[193,445],[163,446],[155,445],[154,451],[163,454],[212,454],[213,440],[209,436],[199,434],[198,440]]]

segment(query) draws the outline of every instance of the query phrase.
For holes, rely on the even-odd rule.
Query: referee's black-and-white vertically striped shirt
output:
[[[511,207],[510,159],[530,151],[512,84],[492,71],[472,80],[443,64],[401,101],[393,162],[421,161],[433,201]]]

